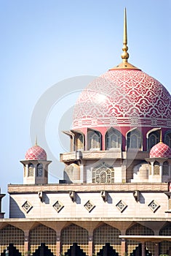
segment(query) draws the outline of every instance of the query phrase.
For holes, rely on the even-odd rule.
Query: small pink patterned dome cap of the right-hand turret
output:
[[[150,157],[171,158],[171,148],[166,144],[159,142],[151,148]]]

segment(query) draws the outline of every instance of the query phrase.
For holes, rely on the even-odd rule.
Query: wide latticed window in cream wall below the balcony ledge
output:
[[[114,183],[114,168],[101,165],[92,170],[92,183]]]

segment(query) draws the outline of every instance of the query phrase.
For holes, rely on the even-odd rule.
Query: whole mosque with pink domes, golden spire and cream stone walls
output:
[[[129,63],[126,10],[122,50],[76,101],[63,180],[48,183],[37,143],[20,161],[8,219],[0,208],[1,256],[171,255],[171,96]]]

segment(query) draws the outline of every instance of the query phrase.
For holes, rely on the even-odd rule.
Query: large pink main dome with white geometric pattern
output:
[[[81,92],[73,129],[111,126],[171,127],[170,93],[141,70],[109,70]]]

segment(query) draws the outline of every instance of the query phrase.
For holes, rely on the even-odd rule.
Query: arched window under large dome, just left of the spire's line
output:
[[[109,148],[121,148],[122,146],[122,134],[116,129],[109,129],[106,133],[106,149]]]

